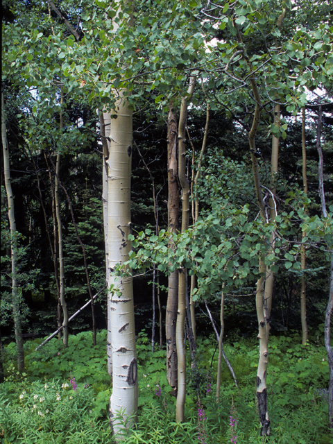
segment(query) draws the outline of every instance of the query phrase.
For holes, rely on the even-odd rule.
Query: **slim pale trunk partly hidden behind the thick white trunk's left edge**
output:
[[[101,137],[103,143],[103,160],[102,160],[102,203],[103,203],[103,226],[104,226],[104,245],[105,245],[105,266],[106,266],[106,284],[110,287],[109,273],[109,247],[108,247],[108,164],[110,150],[110,134],[111,134],[111,112],[99,112],[99,121],[101,126]],[[106,339],[106,355],[108,359],[108,373],[112,376],[112,337],[111,337],[111,309],[110,298],[107,298],[107,325],[108,336]]]

